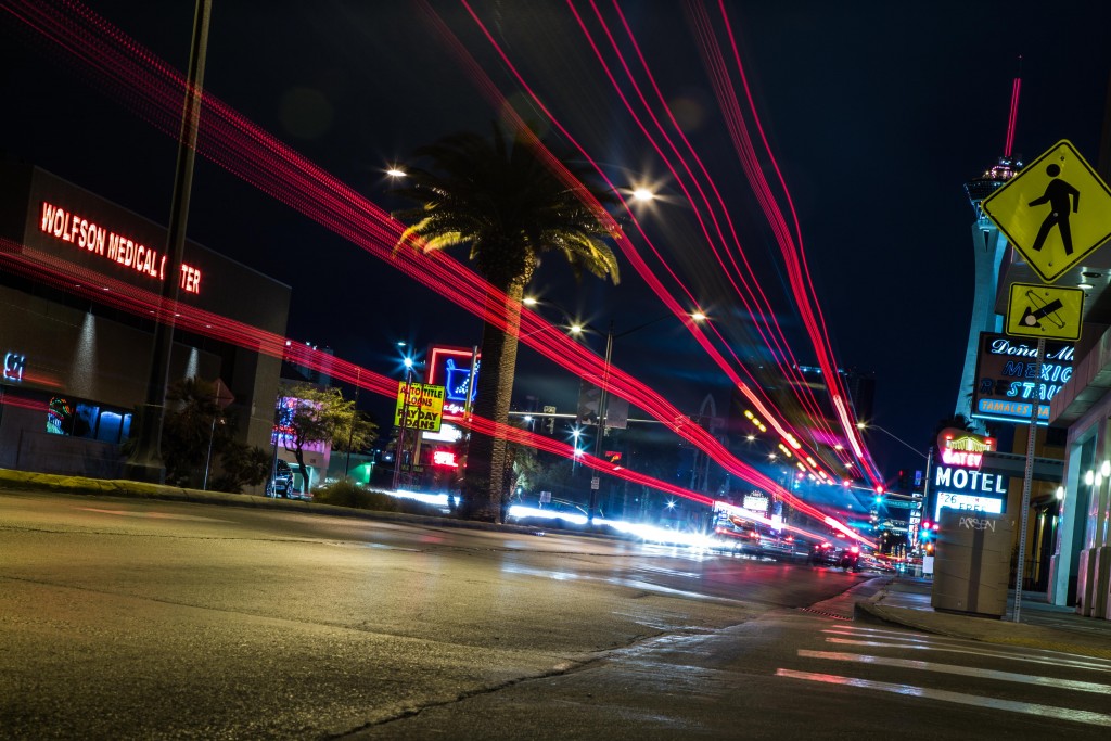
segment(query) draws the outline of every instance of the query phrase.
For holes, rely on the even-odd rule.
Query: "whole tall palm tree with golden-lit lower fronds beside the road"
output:
[[[478,272],[507,297],[508,331],[489,322],[482,329],[474,402],[477,415],[502,423],[509,420],[521,298],[541,254],[563,256],[575,278],[589,271],[618,282],[617,257],[603,239],[615,238],[619,229],[598,207],[615,199],[581,166],[561,160],[574,180],[559,177],[538,158],[539,148],[528,134],[509,143],[497,127],[492,140],[476,133],[448,136],[416,151],[430,168],[412,170],[409,184],[396,191],[419,204],[396,214],[411,224],[399,247],[431,251],[466,246]],[[504,439],[471,433],[463,517],[498,520],[506,454]]]

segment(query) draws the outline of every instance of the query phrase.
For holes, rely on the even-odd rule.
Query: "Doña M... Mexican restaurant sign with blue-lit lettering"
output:
[[[1071,343],[1047,341],[1039,373],[1037,342],[981,332],[972,417],[1029,424],[1037,403],[1038,424],[1048,425],[1049,402],[1072,378],[1072,358]]]

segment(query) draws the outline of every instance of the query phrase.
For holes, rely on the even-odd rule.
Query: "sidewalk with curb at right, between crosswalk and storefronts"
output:
[[[1013,622],[1013,590],[1002,619],[938,612],[930,604],[933,582],[892,577],[868,600],[857,602],[857,620],[879,620],[930,633],[985,643],[1021,645],[1111,660],[1111,620],[1085,618],[1072,608],[1048,604],[1043,595],[1023,592],[1020,622]]]

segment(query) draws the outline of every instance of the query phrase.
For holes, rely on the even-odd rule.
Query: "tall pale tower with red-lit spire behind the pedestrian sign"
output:
[[[975,361],[980,349],[980,332],[999,332],[1003,318],[995,313],[995,292],[999,289],[999,270],[1007,252],[1007,238],[995,228],[980,208],[983,199],[1002,188],[1018,174],[1022,162],[1012,156],[1014,124],[1019,110],[1019,88],[1022,80],[1014,78],[1011,89],[1011,114],[1007,124],[1007,143],[1003,156],[979,178],[964,183],[964,193],[972,203],[975,221],[972,223],[972,252],[975,261],[975,289],[972,299],[972,318],[969,324],[969,341],[964,350],[964,371],[957,392],[955,414],[971,417],[972,391],[975,383]],[[982,430],[981,430],[982,432]]]

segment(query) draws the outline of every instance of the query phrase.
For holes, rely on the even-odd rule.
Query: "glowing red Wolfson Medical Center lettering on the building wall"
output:
[[[166,280],[166,256],[129,237],[110,231],[79,213],[42,201],[39,231],[69,242],[90,254],[111,260],[154,280]],[[201,292],[201,271],[181,263],[179,288],[187,293]]]

